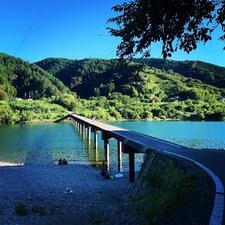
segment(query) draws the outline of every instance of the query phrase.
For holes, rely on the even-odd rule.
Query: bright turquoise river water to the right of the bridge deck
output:
[[[225,149],[225,121],[129,121],[110,124],[187,147]]]

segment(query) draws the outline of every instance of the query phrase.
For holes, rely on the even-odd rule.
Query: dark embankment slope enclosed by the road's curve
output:
[[[214,183],[192,162],[161,154],[151,162],[147,154],[135,191],[140,224],[209,224]]]

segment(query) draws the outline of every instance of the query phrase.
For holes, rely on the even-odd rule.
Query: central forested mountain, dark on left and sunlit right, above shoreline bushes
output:
[[[48,72],[55,71],[54,76],[83,98],[109,97],[119,92],[138,97],[142,101],[168,101],[174,96],[179,96],[182,100],[190,98],[210,101],[225,95],[225,89],[206,85],[197,79],[185,78],[171,69],[167,73],[155,69],[156,66],[150,68],[139,63],[131,62],[122,67],[117,60],[50,58],[38,62],[37,65]]]

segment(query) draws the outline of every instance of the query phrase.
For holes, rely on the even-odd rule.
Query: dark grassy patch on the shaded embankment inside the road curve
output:
[[[193,193],[191,174],[177,168],[171,160],[159,165],[143,177],[146,192],[134,200],[135,214],[141,223],[157,224],[161,216],[187,207]]]

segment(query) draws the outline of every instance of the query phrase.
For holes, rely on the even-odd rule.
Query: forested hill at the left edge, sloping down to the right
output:
[[[68,91],[60,80],[37,65],[0,53],[0,100],[15,96],[39,99]]]

